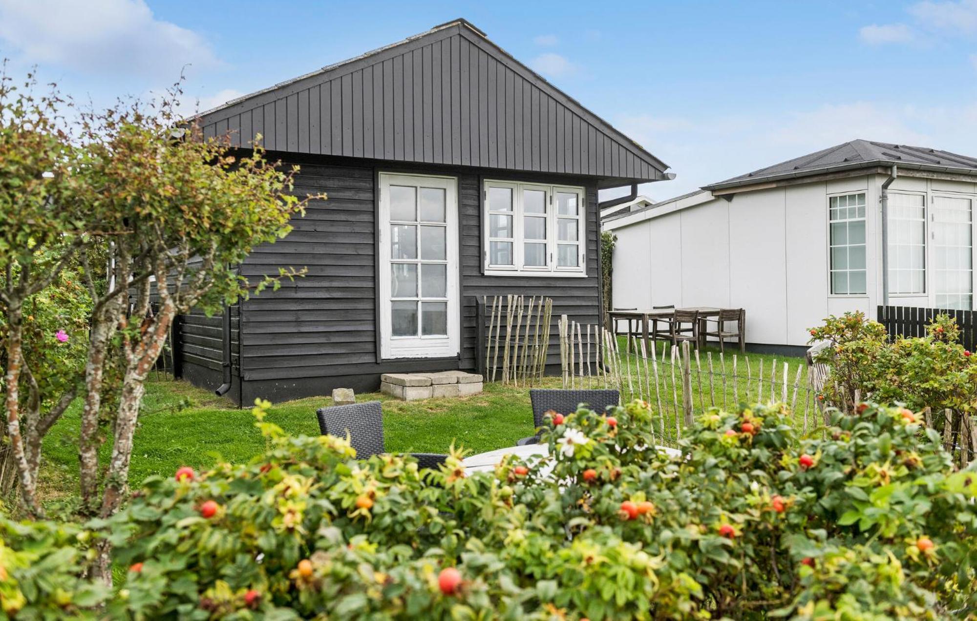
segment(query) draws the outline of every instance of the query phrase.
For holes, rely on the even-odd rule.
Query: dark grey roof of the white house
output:
[[[867,166],[891,166],[931,170],[956,174],[977,174],[977,158],[958,155],[925,146],[893,145],[873,141],[855,140],[842,145],[795,157],[733,177],[705,189],[745,186],[786,178],[804,177],[820,173],[857,169]]]

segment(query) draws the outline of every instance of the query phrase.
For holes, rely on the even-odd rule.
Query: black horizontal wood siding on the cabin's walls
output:
[[[436,166],[414,170],[394,163],[376,162],[374,168],[326,164],[315,158],[295,159],[302,167],[296,190],[325,192],[328,198],[313,201],[305,218],[293,221],[294,230],[288,236],[257,248],[241,266],[241,273],[247,276],[276,273],[282,267],[308,269],[305,277],[284,282],[278,291],[266,290],[244,303],[241,319],[244,400],[250,395],[249,383],[258,383],[255,386],[265,390],[275,386],[275,381],[281,381],[282,386],[293,387],[290,390],[307,392],[313,390],[310,387],[317,387],[319,393],[325,393],[331,386],[328,378],[348,383],[349,378],[357,377],[361,378],[357,382],[359,386],[375,387],[379,374],[384,372],[474,369],[478,332],[476,297],[512,293],[553,298],[549,361],[554,365],[559,363],[556,321],[561,313],[566,312],[576,321],[599,321],[598,210],[593,180],[562,177],[554,180],[525,173],[506,176],[497,171],[481,171],[493,178],[539,182],[548,179],[563,185],[586,186],[587,208],[586,277],[485,276],[481,265],[479,175]],[[351,164],[354,162],[350,160]],[[377,362],[373,197],[376,170],[451,174],[458,179],[462,326],[458,359]],[[219,327],[219,323],[215,325]],[[219,341],[211,345],[219,355]],[[321,378],[323,382],[306,381],[310,378]],[[281,398],[286,395],[284,391]]]

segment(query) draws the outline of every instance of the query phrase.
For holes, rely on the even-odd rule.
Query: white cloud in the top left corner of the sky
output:
[[[219,63],[203,37],[155,19],[144,0],[0,0],[0,39],[20,61],[89,74],[176,81],[186,64]]]

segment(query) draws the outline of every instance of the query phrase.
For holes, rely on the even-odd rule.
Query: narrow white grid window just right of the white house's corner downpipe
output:
[[[889,287],[926,293],[926,197],[889,192]]]

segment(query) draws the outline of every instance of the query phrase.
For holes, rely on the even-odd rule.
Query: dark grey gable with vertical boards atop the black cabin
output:
[[[347,157],[658,181],[668,168],[468,21],[193,117],[204,137]]]

